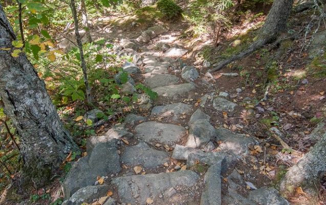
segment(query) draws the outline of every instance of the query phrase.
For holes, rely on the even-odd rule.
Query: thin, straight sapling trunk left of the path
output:
[[[82,49],[81,37],[79,34],[78,17],[77,17],[75,0],[70,0],[70,7],[71,7],[71,11],[72,11],[73,17],[74,17],[75,35],[76,35],[77,45],[79,48],[81,69],[82,69],[83,76],[84,76],[84,84],[85,84],[85,91],[86,91],[86,103],[90,104],[90,103],[92,103],[91,87],[89,85],[89,80],[88,80],[88,76],[87,76],[87,68],[86,68],[86,63],[85,63],[85,58],[84,58],[84,52]]]

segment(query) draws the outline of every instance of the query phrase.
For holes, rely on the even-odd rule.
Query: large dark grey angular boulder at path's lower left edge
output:
[[[107,136],[94,137],[88,141],[87,147],[90,148],[87,150],[88,156],[74,163],[62,183],[66,199],[82,187],[94,185],[97,176],[107,176],[121,170],[116,139]]]

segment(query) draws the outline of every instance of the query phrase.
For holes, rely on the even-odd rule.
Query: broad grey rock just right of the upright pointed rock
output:
[[[237,155],[247,154],[248,146],[255,143],[253,138],[237,134],[225,128],[216,129],[216,141],[222,142],[219,146],[220,149],[232,151]]]

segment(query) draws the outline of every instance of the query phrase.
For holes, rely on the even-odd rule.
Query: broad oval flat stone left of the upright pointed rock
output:
[[[154,121],[143,122],[135,128],[135,137],[148,143],[159,141],[164,145],[173,145],[184,135],[186,130],[181,126]]]

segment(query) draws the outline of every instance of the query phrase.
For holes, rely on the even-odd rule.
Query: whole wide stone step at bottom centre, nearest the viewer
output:
[[[111,183],[117,187],[121,202],[131,204],[170,204],[173,195],[180,194],[182,198],[176,197],[175,204],[186,204],[183,200],[193,199],[191,189],[199,180],[199,176],[190,170],[133,175],[114,178]],[[186,187],[185,192],[179,193],[180,187]],[[179,198],[179,199],[178,199]],[[147,200],[147,203],[146,203]],[[148,200],[153,202],[148,203]],[[177,200],[177,201],[176,201]],[[162,202],[160,202],[162,201]]]

